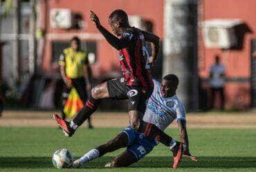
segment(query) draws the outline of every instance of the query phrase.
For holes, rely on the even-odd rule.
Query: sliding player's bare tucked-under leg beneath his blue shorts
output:
[[[131,151],[125,151],[118,155],[112,162],[111,166],[113,167],[124,167],[137,162],[137,158]]]

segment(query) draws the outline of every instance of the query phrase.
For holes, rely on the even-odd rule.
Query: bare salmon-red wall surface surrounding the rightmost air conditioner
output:
[[[214,63],[214,56],[219,54],[222,63],[226,66],[229,78],[250,78],[250,41],[256,38],[255,0],[204,0],[201,19],[241,19],[252,31],[244,36],[244,46],[241,50],[218,50],[204,47],[199,39],[199,75],[208,77],[210,65]],[[243,95],[243,96],[237,96]],[[242,97],[242,101],[241,101]],[[244,107],[250,105],[250,83],[228,83],[226,85],[226,108],[236,108],[237,103]]]

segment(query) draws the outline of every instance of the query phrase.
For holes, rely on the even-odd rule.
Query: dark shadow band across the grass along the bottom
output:
[[[114,157],[105,156],[97,160],[89,162],[84,169],[102,169],[104,164],[113,160]],[[133,168],[147,168],[147,167],[158,167],[165,168],[170,167],[172,159],[166,156],[148,156],[140,160],[139,162],[129,166]],[[54,168],[51,162],[51,158],[46,157],[24,157],[24,158],[9,158],[0,157],[1,168],[19,168],[19,169],[45,169]],[[183,158],[180,168],[245,168],[255,167],[255,157],[199,157],[199,162],[192,162],[187,158]]]

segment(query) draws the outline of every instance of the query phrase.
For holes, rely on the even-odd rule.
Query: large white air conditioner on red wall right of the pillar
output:
[[[237,45],[234,27],[241,24],[238,19],[214,19],[202,23],[203,40],[206,47],[229,49]]]

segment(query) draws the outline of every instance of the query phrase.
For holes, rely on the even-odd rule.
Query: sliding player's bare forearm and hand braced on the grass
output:
[[[189,144],[188,144],[188,133],[186,129],[186,122],[185,120],[179,120],[178,121],[178,127],[179,127],[179,136],[181,138],[181,142],[183,142],[183,155],[187,156],[193,161],[198,162],[197,158],[195,156],[192,156],[190,154]]]

